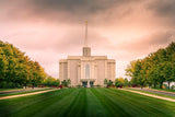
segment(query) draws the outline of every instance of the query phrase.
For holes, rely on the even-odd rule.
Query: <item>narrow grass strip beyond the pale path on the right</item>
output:
[[[158,95],[158,96],[163,96],[163,97],[168,97],[168,98],[175,100],[174,96],[170,96],[170,95],[165,95],[165,94],[159,94],[159,93],[153,93],[153,92],[149,92],[149,91],[137,90],[137,89],[127,89],[127,90],[143,92],[143,93],[148,93],[148,94],[153,94],[153,95]]]

